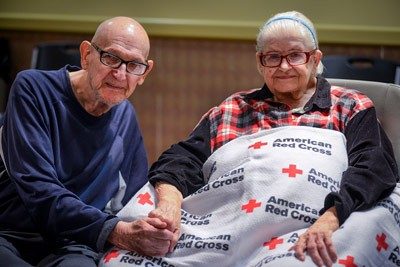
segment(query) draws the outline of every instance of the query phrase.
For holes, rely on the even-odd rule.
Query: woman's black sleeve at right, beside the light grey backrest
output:
[[[372,207],[388,196],[398,181],[392,145],[377,120],[375,108],[359,112],[345,132],[349,166],[340,190],[325,199],[323,213],[335,206],[342,224],[352,212]]]

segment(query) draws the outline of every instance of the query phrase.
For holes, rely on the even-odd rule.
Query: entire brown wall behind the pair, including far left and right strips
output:
[[[30,67],[40,42],[77,41],[90,35],[0,31],[10,42],[12,77]],[[150,162],[185,138],[201,116],[229,94],[259,87],[252,41],[150,37],[155,68],[131,100],[136,108]],[[400,62],[400,47],[321,44],[325,55],[345,54]]]

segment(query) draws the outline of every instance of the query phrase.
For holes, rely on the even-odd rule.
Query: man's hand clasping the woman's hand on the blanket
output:
[[[167,229],[167,223],[158,218],[144,218],[133,222],[118,222],[108,241],[121,249],[142,255],[164,256],[173,238],[174,233]]]

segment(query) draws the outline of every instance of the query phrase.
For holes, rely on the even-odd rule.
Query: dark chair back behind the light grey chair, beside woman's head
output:
[[[396,71],[398,76],[400,64],[390,60],[329,55],[322,58],[322,63],[326,78],[398,83]]]

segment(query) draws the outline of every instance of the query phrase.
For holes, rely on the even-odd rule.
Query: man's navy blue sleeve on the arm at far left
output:
[[[2,134],[5,165],[25,209],[43,237],[75,240],[97,249],[104,223],[115,218],[86,205],[59,181],[46,102],[34,81],[17,76]]]

